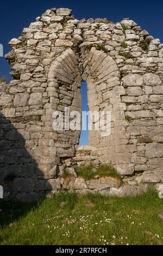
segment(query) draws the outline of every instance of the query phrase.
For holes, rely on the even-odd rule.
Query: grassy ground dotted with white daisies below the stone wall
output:
[[[61,202],[66,202],[61,207]],[[60,193],[41,203],[2,203],[1,245],[162,245],[163,200]]]

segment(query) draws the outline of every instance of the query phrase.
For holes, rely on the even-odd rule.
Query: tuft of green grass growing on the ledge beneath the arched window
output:
[[[93,171],[93,164],[77,167],[78,176],[82,176],[85,180],[93,179],[96,175],[111,176],[121,180],[121,176],[117,174],[116,169],[111,164],[101,164],[98,168]]]

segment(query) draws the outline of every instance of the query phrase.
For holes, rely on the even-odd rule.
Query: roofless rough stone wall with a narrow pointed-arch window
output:
[[[5,56],[13,80],[0,84],[0,185],[4,199],[30,202],[47,192],[76,190],[133,195],[163,189],[163,45],[129,19],[77,20],[53,8],[12,39]],[[82,111],[87,83],[90,111],[111,111],[111,135],[53,131],[52,113]],[[64,168],[111,163],[122,175],[65,182]]]

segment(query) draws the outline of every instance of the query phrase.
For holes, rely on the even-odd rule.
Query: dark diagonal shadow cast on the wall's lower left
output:
[[[21,127],[20,123],[15,124]],[[52,190],[25,144],[20,132],[0,113],[0,185],[3,186],[3,200],[34,202],[44,199],[46,193]]]

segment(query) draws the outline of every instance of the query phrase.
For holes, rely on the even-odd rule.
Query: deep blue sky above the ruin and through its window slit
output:
[[[29,27],[30,22],[35,21],[49,8],[70,8],[77,19],[89,19],[97,17],[106,17],[110,21],[118,22],[124,17],[134,20],[142,29],[146,29],[154,38],[159,38],[163,42],[162,33],[162,10],[163,1],[1,1],[0,15],[0,44],[4,46],[4,54],[10,51],[8,42],[12,38],[18,38],[24,27]],[[0,57],[0,77],[5,76],[10,80],[9,65],[7,61]],[[86,88],[86,87],[85,87]],[[86,95],[86,89],[82,91],[82,96]],[[84,97],[83,106],[86,108],[86,97]],[[83,132],[82,144],[87,143],[87,133]]]

